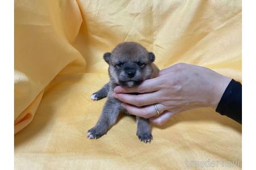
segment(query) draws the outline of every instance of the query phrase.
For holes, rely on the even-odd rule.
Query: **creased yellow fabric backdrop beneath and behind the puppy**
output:
[[[103,53],[122,41],[154,52],[160,69],[185,62],[241,81],[241,1],[16,0],[15,133],[32,121],[15,135],[15,169],[241,169],[241,125],[210,108],[153,125],[150,144],[128,116],[86,138],[106,101],[91,101],[109,80]]]

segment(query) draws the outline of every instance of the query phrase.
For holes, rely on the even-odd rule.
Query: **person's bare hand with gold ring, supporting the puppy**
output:
[[[181,111],[198,107],[216,109],[231,80],[206,67],[178,63],[160,70],[159,77],[145,80],[137,87],[116,87],[113,97],[122,101],[130,114],[161,125]],[[134,92],[143,94],[125,94]],[[160,116],[156,116],[153,104],[157,104]]]

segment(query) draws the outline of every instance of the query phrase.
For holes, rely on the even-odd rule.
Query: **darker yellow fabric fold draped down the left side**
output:
[[[39,104],[36,96],[41,95],[41,91],[64,67],[82,58],[71,45],[81,23],[81,13],[75,0],[15,1],[16,133],[33,118],[35,106]],[[24,116],[28,107],[34,111],[30,116]],[[19,125],[17,119],[22,117],[27,119]]]

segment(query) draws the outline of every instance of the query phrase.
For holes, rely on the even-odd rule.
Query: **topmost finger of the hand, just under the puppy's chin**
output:
[[[147,92],[153,92],[160,90],[160,84],[162,82],[162,79],[157,77],[157,78],[152,78],[143,81],[139,86],[137,87],[122,87],[122,86],[117,86],[114,88],[114,92],[116,93],[147,93]]]

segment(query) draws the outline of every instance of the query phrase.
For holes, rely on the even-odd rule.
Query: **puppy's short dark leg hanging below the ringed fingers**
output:
[[[152,139],[151,127],[149,121],[145,118],[136,116],[137,121],[137,136],[140,141],[145,143],[150,142]]]

